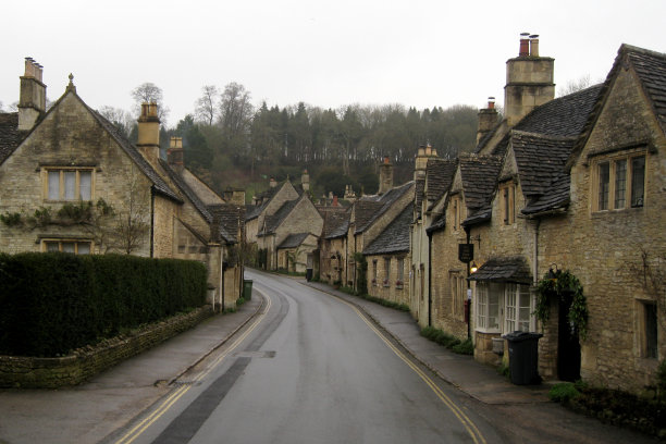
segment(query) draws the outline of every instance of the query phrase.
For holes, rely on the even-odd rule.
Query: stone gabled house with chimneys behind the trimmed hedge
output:
[[[221,282],[238,238],[160,159],[155,103],[144,103],[133,145],[81,99],[72,76],[47,112],[42,67],[26,59],[18,112],[0,115],[1,251],[200,260],[213,304],[235,304],[240,285]]]

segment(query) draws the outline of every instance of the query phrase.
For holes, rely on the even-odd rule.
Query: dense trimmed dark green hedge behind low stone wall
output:
[[[0,355],[64,355],[206,303],[200,262],[0,254]]]

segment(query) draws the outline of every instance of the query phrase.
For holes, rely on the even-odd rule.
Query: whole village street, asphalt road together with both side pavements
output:
[[[448,355],[408,313],[303,279],[246,278],[252,300],[221,330],[226,316],[75,388],[0,392],[0,443],[652,442]]]

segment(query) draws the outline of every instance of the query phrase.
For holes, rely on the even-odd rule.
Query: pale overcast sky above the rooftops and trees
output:
[[[131,111],[132,89],[156,84],[169,126],[194,112],[202,86],[231,82],[269,107],[483,108],[489,96],[504,102],[520,33],[540,35],[559,90],[602,82],[621,44],[666,52],[665,25],[665,0],[10,0],[0,101],[18,100],[32,57],[49,100],[70,73],[95,109]]]

